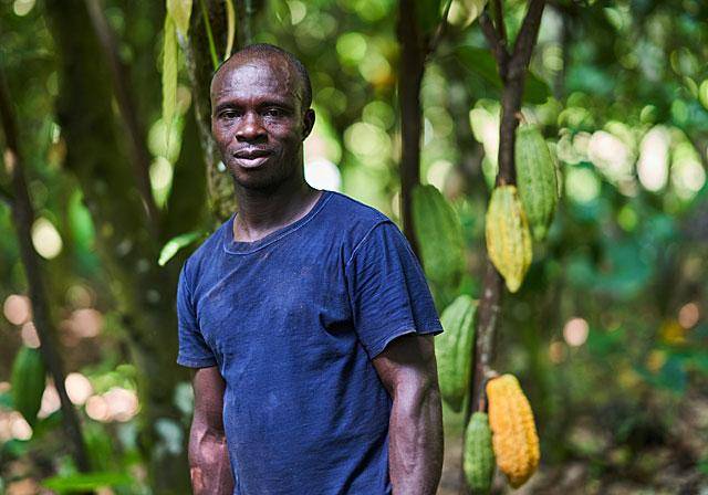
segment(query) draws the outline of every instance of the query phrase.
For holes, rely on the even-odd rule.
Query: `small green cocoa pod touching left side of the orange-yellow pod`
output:
[[[488,494],[494,477],[494,451],[487,414],[476,412],[465,430],[465,476],[473,494]]]

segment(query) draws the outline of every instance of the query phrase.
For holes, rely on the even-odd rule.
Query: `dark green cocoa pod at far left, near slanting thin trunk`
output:
[[[34,426],[42,404],[46,373],[39,349],[20,348],[12,364],[12,403],[14,409]]]

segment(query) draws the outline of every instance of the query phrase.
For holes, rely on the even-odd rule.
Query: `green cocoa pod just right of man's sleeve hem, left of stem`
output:
[[[440,316],[442,334],[435,338],[435,357],[442,400],[455,411],[462,409],[469,389],[475,345],[477,303],[461,295]]]

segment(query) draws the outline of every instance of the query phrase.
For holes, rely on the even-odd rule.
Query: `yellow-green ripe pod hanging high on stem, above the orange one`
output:
[[[499,186],[487,209],[487,253],[509,292],[517,292],[531,265],[533,247],[525,211],[514,186]]]

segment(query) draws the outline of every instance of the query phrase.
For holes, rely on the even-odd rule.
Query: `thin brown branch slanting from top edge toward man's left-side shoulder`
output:
[[[113,31],[108,25],[101,0],[85,0],[86,9],[91,18],[91,23],[98,38],[101,48],[111,69],[113,80],[113,88],[118,103],[118,109],[125,128],[128,134],[128,141],[136,176],[137,188],[143,198],[148,227],[154,235],[157,235],[159,224],[159,210],[155,204],[153,197],[153,188],[150,185],[149,167],[150,155],[145,144],[145,131],[138,122],[137,112],[133,98],[131,97],[129,83],[126,77],[126,69],[118,57],[118,49],[113,35]]]

